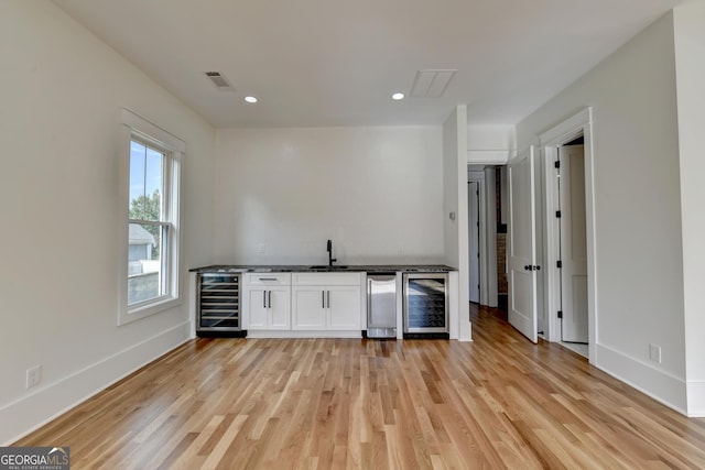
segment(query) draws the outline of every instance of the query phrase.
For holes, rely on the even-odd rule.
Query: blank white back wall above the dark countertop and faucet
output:
[[[214,258],[443,262],[440,127],[217,131]],[[265,253],[259,253],[260,245]]]

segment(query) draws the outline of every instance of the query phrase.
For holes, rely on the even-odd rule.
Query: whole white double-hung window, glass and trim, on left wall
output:
[[[118,325],[180,299],[180,174],[185,144],[122,111]]]

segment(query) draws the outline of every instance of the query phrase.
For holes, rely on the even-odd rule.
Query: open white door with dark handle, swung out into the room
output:
[[[509,323],[536,342],[536,240],[533,146],[509,162]]]

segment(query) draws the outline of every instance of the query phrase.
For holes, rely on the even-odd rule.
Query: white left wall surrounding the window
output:
[[[116,150],[129,107],[187,144],[184,271],[209,263],[214,130],[48,1],[0,3],[0,442],[188,336],[187,302],[117,326]],[[25,370],[42,365],[39,386]]]

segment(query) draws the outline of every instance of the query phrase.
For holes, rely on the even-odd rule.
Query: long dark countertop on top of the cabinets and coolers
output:
[[[210,266],[194,267],[188,270],[195,273],[447,273],[456,271],[455,267],[443,264],[339,264],[339,265],[301,265],[301,264],[214,264]]]

